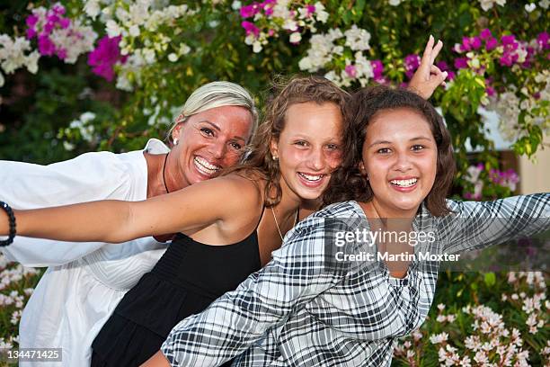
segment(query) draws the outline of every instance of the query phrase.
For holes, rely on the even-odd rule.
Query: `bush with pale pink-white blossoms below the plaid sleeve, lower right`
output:
[[[472,281],[459,275],[456,280]],[[395,364],[410,366],[529,366],[550,363],[548,310],[544,273],[511,272],[481,282],[501,292],[498,306],[483,304],[483,292],[473,291],[475,304],[460,306],[456,295],[430,310],[428,320],[395,348]],[[464,282],[466,283],[466,282]],[[452,290],[455,291],[455,290]],[[481,293],[481,294],[480,294]],[[443,299],[439,292],[439,299]],[[485,295],[486,296],[486,295]],[[497,309],[498,308],[498,309]],[[447,311],[448,310],[448,311]]]

